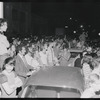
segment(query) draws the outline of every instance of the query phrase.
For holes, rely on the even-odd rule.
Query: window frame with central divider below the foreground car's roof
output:
[[[27,93],[31,94],[31,98],[38,98],[35,90],[41,89],[41,90],[54,90],[56,91],[55,97],[60,98],[60,92],[61,91],[67,91],[67,92],[74,92],[74,93],[79,93],[81,95],[82,91],[79,91],[78,89],[75,88],[69,88],[69,87],[53,87],[53,86],[36,86],[36,85],[30,85],[27,88],[25,97],[27,98]]]

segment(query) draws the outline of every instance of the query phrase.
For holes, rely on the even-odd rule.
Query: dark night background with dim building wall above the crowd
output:
[[[88,32],[95,39],[100,32],[99,0],[26,0],[4,4],[5,18],[10,23],[8,32],[12,34],[53,35],[56,28],[64,28],[70,36]]]

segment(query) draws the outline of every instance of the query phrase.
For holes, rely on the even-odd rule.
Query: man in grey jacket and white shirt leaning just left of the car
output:
[[[25,59],[25,54],[26,54],[26,48],[24,44],[21,44],[18,46],[18,54],[15,59],[15,72],[17,75],[20,77],[22,80],[23,84],[27,81],[28,77],[31,76],[34,72],[34,68],[30,66],[26,59]],[[24,87],[22,87],[23,91]],[[22,94],[22,91],[18,94],[19,97]]]

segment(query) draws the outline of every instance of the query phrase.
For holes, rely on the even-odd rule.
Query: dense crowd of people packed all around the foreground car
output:
[[[0,19],[0,97],[21,97],[24,84],[40,69],[49,67],[79,67],[85,80],[85,89],[81,98],[99,95],[100,90],[100,47],[86,42],[86,33],[78,39],[65,36],[13,37],[9,42],[4,32],[7,20]],[[76,53],[73,65],[70,48],[81,49]]]

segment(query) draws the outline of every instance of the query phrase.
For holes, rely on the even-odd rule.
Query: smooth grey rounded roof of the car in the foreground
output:
[[[41,69],[33,74],[27,80],[25,86],[27,85],[73,88],[82,92],[84,90],[84,79],[77,67],[55,66]]]

